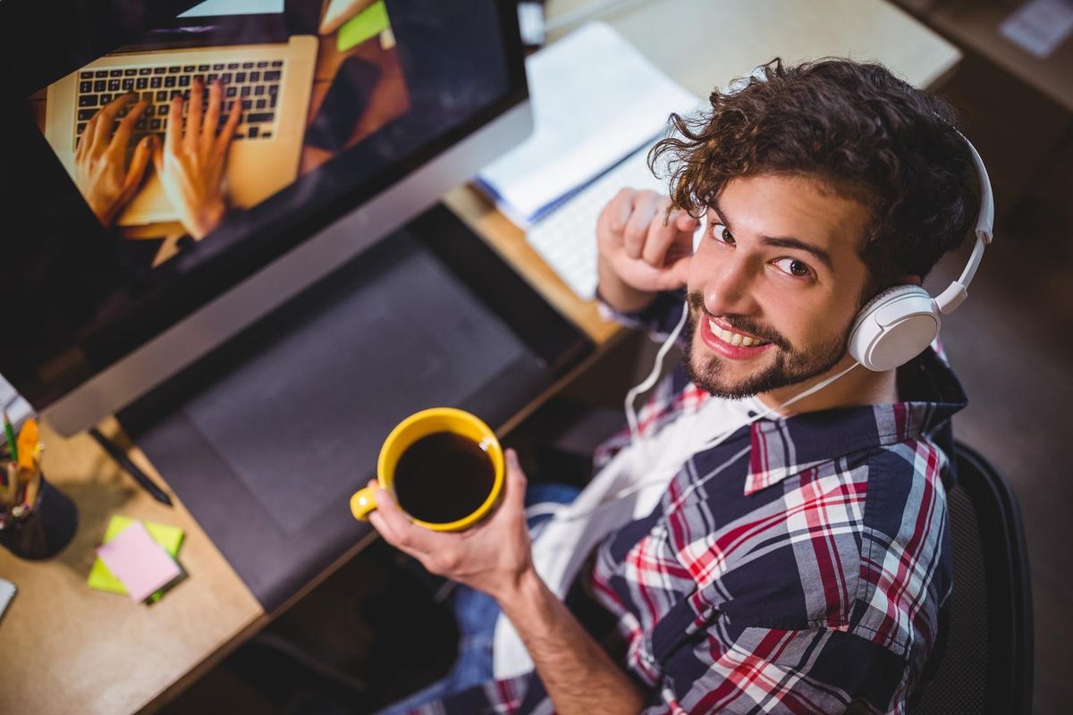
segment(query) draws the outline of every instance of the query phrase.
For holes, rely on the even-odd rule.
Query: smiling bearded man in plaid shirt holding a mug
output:
[[[853,364],[864,303],[920,284],[961,242],[978,179],[945,104],[882,66],[775,61],[763,75],[714,92],[708,116],[674,118],[657,148],[675,160],[670,200],[623,190],[600,217],[604,308],[665,332],[688,304],[685,363],[641,431],[671,444],[656,441],[677,429],[693,450],[649,515],[602,540],[571,608],[532,566],[513,456],[503,504],[469,532],[422,530],[378,494],[380,534],[495,598],[535,666],[439,690],[423,712],[903,713],[921,684],[952,585],[961,389],[928,348],[783,405]],[[703,419],[682,431],[690,415]],[[690,434],[699,423],[712,429]],[[619,647],[590,635],[601,615]]]

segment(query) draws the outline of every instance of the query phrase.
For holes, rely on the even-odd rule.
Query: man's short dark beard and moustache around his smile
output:
[[[693,351],[697,321],[707,319],[704,298],[700,293],[690,293],[686,318],[686,348],[684,367],[693,384],[712,397],[736,400],[761,392],[769,392],[780,387],[796,385],[810,377],[829,371],[846,355],[849,346],[850,327],[841,336],[804,349],[794,347],[789,340],[774,328],[756,323],[743,315],[720,315],[719,317],[735,330],[748,332],[775,347],[775,361],[760,372],[731,383],[726,376],[725,358],[708,355],[700,364]]]

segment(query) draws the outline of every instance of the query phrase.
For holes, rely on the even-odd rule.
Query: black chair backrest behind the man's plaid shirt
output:
[[[1020,507],[1010,483],[976,450],[955,447],[947,494],[954,567],[951,623],[938,668],[912,715],[1029,715],[1032,595]],[[929,664],[936,665],[936,664]]]

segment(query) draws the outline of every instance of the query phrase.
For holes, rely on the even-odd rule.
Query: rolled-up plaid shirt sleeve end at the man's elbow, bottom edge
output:
[[[837,630],[709,632],[671,656],[644,715],[905,713],[909,667],[868,638]]]

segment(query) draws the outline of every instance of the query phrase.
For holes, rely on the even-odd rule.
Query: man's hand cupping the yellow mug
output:
[[[429,572],[483,591],[494,598],[513,593],[532,568],[526,526],[526,476],[513,449],[506,450],[506,483],[495,513],[458,533],[433,532],[411,522],[392,495],[377,491],[377,510],[369,516],[385,541],[410,554]],[[377,481],[369,482],[376,488]]]

